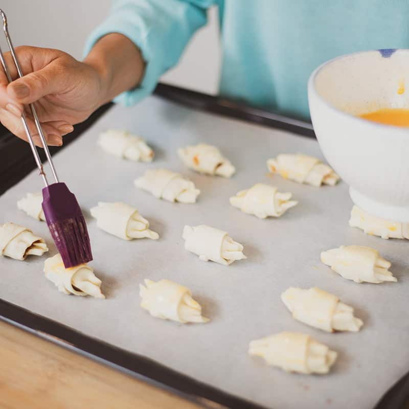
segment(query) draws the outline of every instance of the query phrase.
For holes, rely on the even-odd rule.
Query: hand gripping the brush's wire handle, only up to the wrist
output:
[[[16,54],[24,77],[18,78],[10,53],[5,53],[13,82],[9,84],[0,69],[1,123],[27,141],[21,122],[25,109],[33,140],[42,146],[26,105],[35,102],[48,145],[62,145],[62,136],[105,102],[103,76],[92,64],[79,62],[59,50],[18,47]]]

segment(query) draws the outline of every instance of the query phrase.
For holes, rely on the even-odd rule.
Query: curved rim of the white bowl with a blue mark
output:
[[[397,51],[402,51],[404,53],[409,54],[409,49],[398,48],[398,49],[379,49],[379,50],[356,51],[354,53],[343,54],[343,55],[339,55],[339,56],[337,56],[335,58],[331,58],[330,60],[325,61],[321,65],[317,66],[316,69],[310,74],[310,76],[308,78],[308,84],[307,84],[308,94],[312,93],[314,95],[314,97],[316,97],[328,109],[340,114],[343,117],[347,117],[349,119],[352,119],[353,121],[359,122],[360,124],[367,124],[369,126],[374,126],[376,128],[384,128],[384,129],[389,129],[389,130],[390,129],[395,129],[395,130],[399,130],[399,133],[401,131],[406,131],[406,133],[407,133],[408,127],[406,127],[406,126],[397,126],[397,125],[383,124],[383,123],[380,123],[380,122],[374,122],[374,121],[370,121],[370,120],[365,119],[365,118],[360,118],[360,117],[358,117],[356,115],[352,115],[352,113],[342,111],[342,110],[336,108],[334,105],[332,105],[326,99],[324,99],[317,92],[317,90],[315,89],[315,78],[326,65],[332,64],[333,62],[335,62],[337,60],[340,60],[340,59],[343,59],[343,58],[346,58],[346,57],[351,57],[351,56],[358,55],[358,54],[380,53],[381,50],[394,50],[393,54],[395,54],[395,52],[397,52]],[[393,56],[393,54],[391,56],[389,56],[389,57],[383,57],[383,58],[391,58]],[[308,102],[309,102],[309,98],[308,98]],[[407,109],[409,109],[409,107]],[[310,110],[311,110],[311,108],[310,108]]]

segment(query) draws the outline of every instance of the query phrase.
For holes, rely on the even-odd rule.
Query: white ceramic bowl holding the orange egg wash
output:
[[[367,51],[324,63],[310,76],[308,101],[324,156],[350,186],[352,201],[375,216],[409,222],[409,128],[357,117],[409,109],[409,50]]]

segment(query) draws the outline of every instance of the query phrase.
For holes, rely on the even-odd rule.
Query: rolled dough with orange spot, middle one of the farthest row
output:
[[[231,162],[213,145],[186,146],[179,148],[177,153],[188,168],[200,173],[231,177],[236,171]]]

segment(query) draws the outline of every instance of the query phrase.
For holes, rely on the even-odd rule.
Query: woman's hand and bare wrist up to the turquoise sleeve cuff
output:
[[[59,50],[18,47],[24,77],[18,78],[10,53],[5,59],[13,82],[0,68],[0,122],[27,140],[21,122],[25,110],[33,140],[41,140],[27,104],[35,103],[48,145],[62,145],[62,136],[84,121],[99,106],[136,86],[144,61],[133,42],[118,33],[102,37],[84,62]]]

